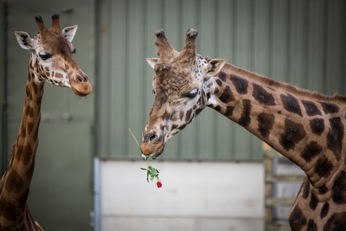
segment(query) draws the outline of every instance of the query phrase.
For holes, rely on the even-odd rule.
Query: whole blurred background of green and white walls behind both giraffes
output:
[[[261,140],[206,109],[152,161],[163,187],[147,183],[138,141],[154,101],[145,62],[155,31],[176,50],[196,28],[197,52],[332,95],[346,89],[343,0],[1,0],[0,170],[17,138],[30,54],[14,31],[34,37],[78,24],[75,60],[93,85],[80,98],[45,85],[28,205],[46,230],[279,230],[300,169]],[[289,178],[280,176],[289,175]]]

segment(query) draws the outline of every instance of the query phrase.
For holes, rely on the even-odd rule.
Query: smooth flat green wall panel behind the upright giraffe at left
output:
[[[95,85],[94,1],[8,1],[8,154],[2,156],[9,155],[17,138],[30,57],[28,50],[17,44],[13,32],[25,31],[34,37],[38,32],[35,15],[41,15],[50,28],[54,13],[60,13],[62,28],[78,24],[73,40],[77,48],[75,60]],[[2,50],[3,40],[0,41]],[[1,83],[3,78],[1,73]],[[80,98],[71,89],[48,83],[44,86],[39,147],[28,205],[46,230],[92,230],[89,212],[93,210],[94,97],[95,92]]]

